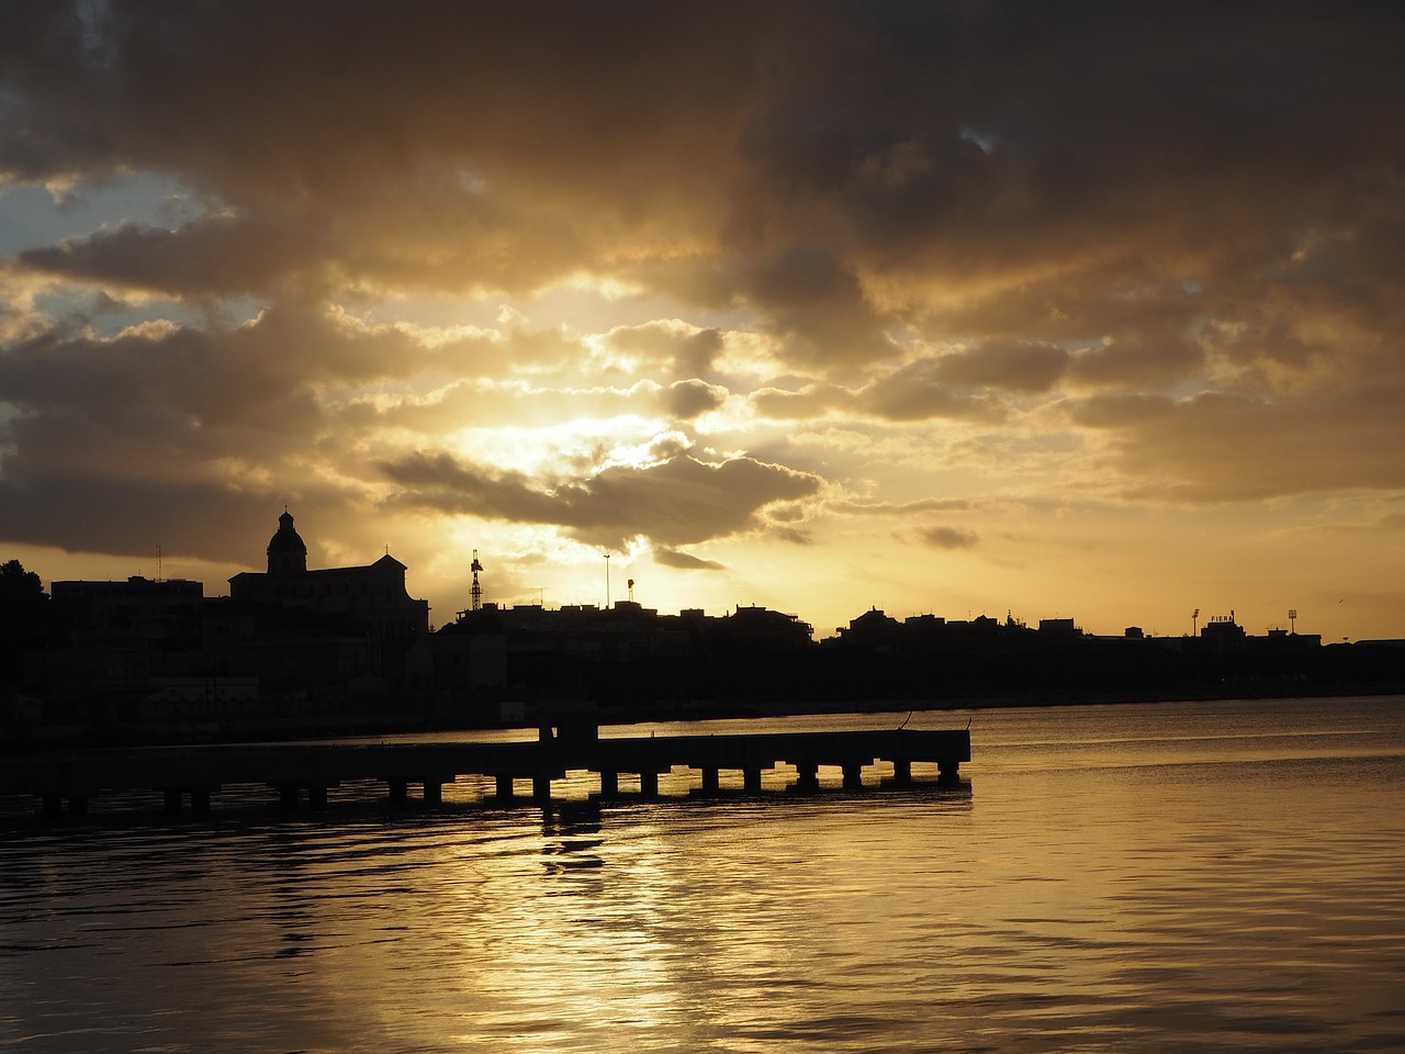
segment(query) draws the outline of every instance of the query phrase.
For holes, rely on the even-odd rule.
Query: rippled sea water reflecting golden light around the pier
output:
[[[0,816],[0,1048],[1405,1050],[1405,700],[971,731],[954,790]]]

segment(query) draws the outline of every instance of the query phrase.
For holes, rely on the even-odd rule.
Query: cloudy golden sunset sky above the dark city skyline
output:
[[[6,3],[0,558],[1405,637],[1405,14],[1139,7]]]

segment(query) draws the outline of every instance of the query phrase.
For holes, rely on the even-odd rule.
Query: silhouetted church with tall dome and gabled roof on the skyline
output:
[[[308,571],[308,547],[284,510],[268,540],[268,571],[244,571],[229,579],[235,600],[277,600],[320,614],[351,616],[382,639],[410,638],[430,628],[429,600],[405,589],[406,566],[386,554],[361,568]]]

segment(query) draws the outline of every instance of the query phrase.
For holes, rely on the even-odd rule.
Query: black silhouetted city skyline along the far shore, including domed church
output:
[[[1194,637],[1135,625],[1107,637],[1071,617],[899,620],[874,607],[815,639],[797,616],[760,606],[708,616],[660,614],[634,600],[479,600],[431,630],[427,604],[407,593],[407,569],[389,554],[309,568],[285,512],[267,559],[267,571],[240,572],[218,597],[200,582],[145,576],[60,580],[46,596],[37,573],[7,562],[0,725],[21,736],[39,728],[277,735],[511,722],[551,698],[638,720],[1405,684],[1405,641],[1324,646],[1295,627],[1249,634],[1232,616],[1205,618]]]

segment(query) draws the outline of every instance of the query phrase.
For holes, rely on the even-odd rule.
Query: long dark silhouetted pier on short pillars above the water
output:
[[[46,815],[87,812],[104,793],[155,791],[167,812],[190,801],[208,812],[222,787],[273,788],[285,808],[299,795],[325,805],[327,793],[353,780],[386,784],[392,802],[406,801],[419,786],[426,804],[443,800],[443,787],[459,776],[495,780],[496,797],[509,801],[518,780],[531,780],[532,800],[547,802],[551,783],[568,772],[600,777],[600,797],[620,794],[620,776],[639,779],[639,793],[659,793],[659,776],[679,767],[701,773],[702,793],[719,788],[721,772],[740,772],[746,791],[760,791],[762,773],[794,766],[797,791],[819,788],[819,769],[836,767],[843,786],[864,786],[865,767],[892,765],[891,783],[912,783],[913,763],[934,763],[939,781],[960,781],[971,760],[965,729],[865,729],[846,732],[738,732],[658,738],[601,738],[593,724],[545,727],[535,741],[457,743],[256,743],[219,746],[148,746],[66,750],[0,759],[0,794],[35,795]],[[875,780],[871,780],[875,781]]]

